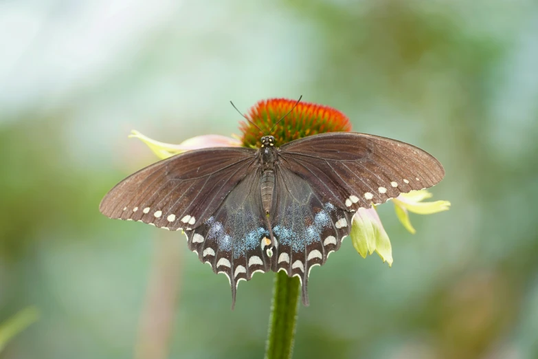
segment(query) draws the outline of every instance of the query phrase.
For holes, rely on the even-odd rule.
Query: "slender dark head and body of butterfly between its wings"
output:
[[[260,149],[260,160],[262,164],[262,177],[260,178],[260,188],[262,191],[262,205],[265,214],[271,211],[273,203],[273,191],[275,189],[275,162],[276,147],[273,136],[263,136],[262,148]]]

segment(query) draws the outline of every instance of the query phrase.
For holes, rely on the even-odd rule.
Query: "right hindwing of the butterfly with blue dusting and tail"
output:
[[[276,237],[273,270],[298,276],[302,302],[309,305],[311,268],[323,265],[349,234],[352,213],[326,201],[312,186],[286,166],[276,167],[276,202],[271,223]]]

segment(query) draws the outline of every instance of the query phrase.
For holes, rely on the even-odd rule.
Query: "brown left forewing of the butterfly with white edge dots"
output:
[[[107,193],[99,209],[111,218],[170,230],[197,228],[255,162],[254,149],[232,147],[176,155],[124,179]]]

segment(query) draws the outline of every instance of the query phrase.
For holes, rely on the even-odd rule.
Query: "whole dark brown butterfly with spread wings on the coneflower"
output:
[[[102,199],[104,215],[183,230],[188,248],[232,288],[256,272],[308,279],[350,234],[359,208],[434,186],[442,165],[411,144],[332,132],[282,146],[189,151],[130,175]]]

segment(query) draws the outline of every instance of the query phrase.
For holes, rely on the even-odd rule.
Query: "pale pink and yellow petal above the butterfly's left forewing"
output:
[[[131,131],[129,138],[139,138],[153,151],[161,160],[194,149],[207,149],[209,147],[238,147],[241,142],[235,138],[222,135],[201,135],[189,138],[180,144],[169,144],[148,138],[139,131]]]

